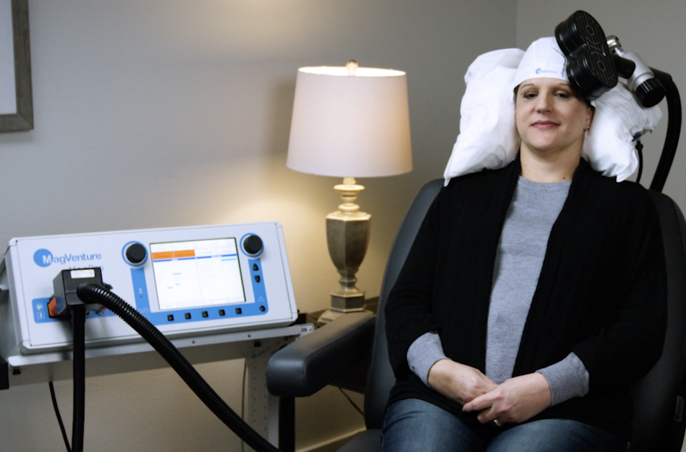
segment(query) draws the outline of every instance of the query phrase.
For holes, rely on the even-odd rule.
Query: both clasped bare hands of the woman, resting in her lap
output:
[[[550,406],[551,392],[543,374],[534,372],[501,384],[480,370],[440,359],[431,366],[429,387],[462,405],[465,412],[479,412],[481,423],[523,423]]]

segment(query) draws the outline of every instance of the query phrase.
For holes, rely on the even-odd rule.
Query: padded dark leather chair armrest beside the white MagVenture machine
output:
[[[267,388],[275,396],[304,397],[368,357],[376,316],[349,313],[274,353],[267,365]]]

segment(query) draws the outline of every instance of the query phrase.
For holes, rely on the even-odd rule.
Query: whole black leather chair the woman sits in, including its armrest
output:
[[[309,396],[340,377],[371,353],[364,403],[367,430],[357,433],[340,452],[379,451],[379,434],[388,394],[395,383],[388,361],[383,306],[412,246],[414,236],[442,180],[429,182],[410,206],[388,258],[379,296],[378,316],[355,313],[342,316],[270,359],[267,385],[277,396]],[[681,451],[686,429],[686,223],[678,206],[666,195],[651,192],[659,211],[669,303],[667,339],[660,361],[637,382],[634,394],[634,435],[630,451]],[[370,349],[370,344],[373,345]]]

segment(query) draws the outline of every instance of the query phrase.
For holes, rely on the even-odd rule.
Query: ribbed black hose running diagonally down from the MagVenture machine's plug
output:
[[[143,337],[155,350],[169,363],[171,368],[186,382],[186,384],[196,393],[198,398],[220,420],[233,430],[241,440],[257,452],[280,452],[273,444],[262,438],[253,430],[243,419],[231,409],[222,398],[217,395],[209,384],[198,374],[189,361],[171,344],[167,337],[163,335],[147,318],[136,311],[127,302],[110,292],[108,289],[96,284],[82,284],[76,290],[76,294],[81,300],[94,302],[103,305],[124,322],[129,324],[134,330]]]

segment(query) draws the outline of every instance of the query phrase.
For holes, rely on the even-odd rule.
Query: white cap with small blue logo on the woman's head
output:
[[[530,78],[558,78],[566,80],[565,55],[555,38],[536,39],[521,58],[517,72],[512,79],[512,90]]]

